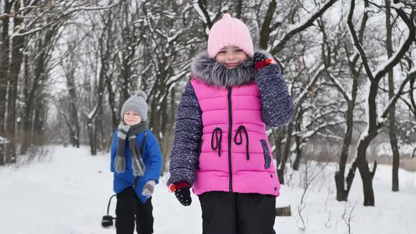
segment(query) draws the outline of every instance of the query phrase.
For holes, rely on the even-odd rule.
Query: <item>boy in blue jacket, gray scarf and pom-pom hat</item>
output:
[[[152,193],[159,183],[161,152],[147,129],[147,95],[136,92],[121,108],[111,147],[113,190],[117,194],[116,233],[153,233]]]

